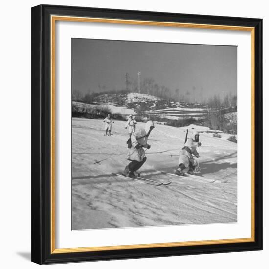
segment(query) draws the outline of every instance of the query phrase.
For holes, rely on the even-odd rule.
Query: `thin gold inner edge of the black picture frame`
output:
[[[55,22],[56,21],[71,21],[71,22],[100,22],[100,23],[117,23],[131,25],[148,25],[148,26],[165,26],[165,27],[182,27],[182,28],[198,28],[211,30],[233,30],[233,31],[249,31],[251,32],[251,237],[250,238],[231,238],[219,240],[202,240],[202,241],[187,241],[187,242],[169,242],[169,243],[149,243],[149,244],[134,244],[134,245],[118,245],[118,246],[102,246],[102,247],[75,247],[75,248],[55,248]],[[179,247],[179,246],[195,246],[195,245],[213,245],[213,244],[228,244],[228,243],[243,243],[255,241],[255,206],[254,206],[254,189],[255,189],[255,28],[245,26],[230,26],[230,25],[213,25],[213,24],[197,24],[197,23],[181,23],[181,22],[155,22],[155,21],[139,21],[139,20],[122,20],[122,19],[107,19],[93,17],[73,17],[73,16],[50,16],[50,112],[51,112],[51,168],[50,168],[50,249],[51,254],[57,253],[76,253],[104,250],[121,250],[121,249],[137,249],[151,247]]]

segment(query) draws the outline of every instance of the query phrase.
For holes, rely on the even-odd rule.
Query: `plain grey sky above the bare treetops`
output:
[[[237,47],[72,38],[72,90],[98,92],[125,88],[133,80],[152,78],[181,93],[195,87],[203,98],[237,92]]]

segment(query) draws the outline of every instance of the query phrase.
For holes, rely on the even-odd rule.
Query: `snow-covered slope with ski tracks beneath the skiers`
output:
[[[72,119],[72,229],[237,222],[237,144],[200,134],[200,175],[217,180],[181,179],[156,170],[174,172],[185,128],[156,125],[141,172],[172,183],[152,186],[112,175],[129,163],[124,126],[108,137],[102,120]]]

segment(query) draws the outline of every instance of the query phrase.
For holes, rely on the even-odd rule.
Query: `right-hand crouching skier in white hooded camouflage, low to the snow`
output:
[[[197,147],[201,146],[199,142],[199,133],[194,131],[191,138],[188,138],[184,147],[179,153],[179,168],[175,171],[176,175],[183,175],[184,173],[194,174],[194,170],[197,167],[197,160],[193,158],[199,157]]]

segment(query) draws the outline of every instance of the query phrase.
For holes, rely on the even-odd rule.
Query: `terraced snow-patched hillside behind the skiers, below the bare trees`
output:
[[[73,116],[86,118],[101,118],[100,113],[95,113],[94,106],[109,108],[102,113],[116,114],[114,118],[128,118],[135,115],[139,121],[155,120],[161,124],[181,127],[190,123],[210,126],[222,130],[226,134],[237,134],[237,106],[219,104],[210,107],[201,103],[174,102],[153,95],[122,92],[96,93],[92,98],[83,102],[73,101]],[[91,109],[88,109],[91,108]],[[93,111],[93,115],[92,115]],[[228,137],[227,137],[228,138]]]

